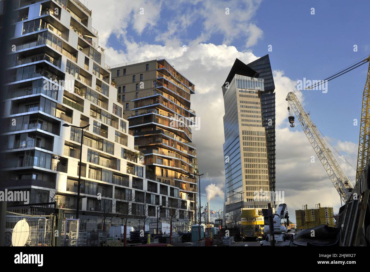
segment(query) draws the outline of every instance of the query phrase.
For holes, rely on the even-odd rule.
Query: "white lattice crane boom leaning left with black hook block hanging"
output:
[[[303,131],[316,152],[317,157],[319,157],[321,163],[323,164],[323,167],[329,175],[330,180],[333,182],[334,187],[343,201],[346,202],[353,189],[349,178],[346,176],[346,174],[344,174],[336,158],[333,156],[332,151],[326,145],[323,135],[317,129],[309,114],[306,113],[297,96],[290,92],[288,93],[286,100],[292,107],[292,110],[295,112],[300,124],[302,125]],[[289,117],[289,122],[292,124],[291,127],[294,127],[293,116]]]

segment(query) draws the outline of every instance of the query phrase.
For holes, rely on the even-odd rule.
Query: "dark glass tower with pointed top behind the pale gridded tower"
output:
[[[266,128],[270,188],[275,192],[275,83],[269,55],[260,57],[247,66],[259,73],[259,78],[264,80],[265,91],[261,94],[262,116],[263,126]]]

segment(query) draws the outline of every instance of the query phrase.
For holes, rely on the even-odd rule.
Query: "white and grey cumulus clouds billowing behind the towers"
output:
[[[91,3],[92,2],[92,3]],[[216,209],[223,206],[223,184],[225,182],[223,150],[223,97],[221,85],[224,83],[235,58],[244,63],[256,60],[252,52],[241,51],[230,43],[241,34],[245,37],[246,47],[258,43],[263,31],[258,28],[258,22],[252,21],[258,10],[260,1],[245,0],[241,6],[237,1],[190,1],[189,5],[196,7],[186,10],[184,14],[176,13],[180,9],[171,6],[173,17],[168,20],[167,29],[157,29],[161,7],[167,7],[169,2],[163,1],[117,1],[105,0],[104,6],[100,1],[90,1],[89,8],[93,10],[93,26],[99,26],[100,44],[106,47],[106,63],[109,65],[125,63],[133,60],[158,56],[166,58],[181,74],[195,84],[195,94],[192,95],[192,108],[200,123],[199,130],[193,130],[193,141],[196,144],[198,166],[205,176],[201,180],[202,197],[211,199]],[[176,2],[178,6],[184,1]],[[140,7],[148,17],[139,17]],[[227,17],[225,8],[230,9]],[[186,33],[189,26],[194,24],[188,14],[201,21],[199,36],[186,43],[186,50],[182,47],[184,41],[179,37]],[[114,20],[112,20],[114,18]],[[150,19],[150,20],[149,20]],[[135,40],[127,34],[134,30],[143,37],[146,31],[155,31],[157,39],[151,43]],[[179,30],[179,33],[176,33]],[[209,42],[213,34],[222,34],[220,44]],[[115,35],[121,42],[121,48],[107,46],[108,38]],[[165,40],[165,43],[161,41]],[[290,128],[285,101],[289,91],[295,89],[296,82],[284,74],[284,67],[272,61],[273,76],[276,86],[276,189],[285,191],[285,202],[288,205],[291,219],[294,221],[294,210],[308,204],[314,208],[315,204],[334,206],[338,211],[340,198],[327,176],[321,162],[317,158],[306,135],[296,122],[295,128]],[[280,69],[280,70],[279,70]],[[304,94],[296,93],[298,99],[305,106]],[[313,120],[314,121],[314,120]],[[330,135],[328,135],[330,136]],[[357,145],[340,139],[330,139],[336,149],[345,158],[356,165]],[[355,151],[354,151],[355,150]],[[333,152],[343,170],[353,175],[349,167],[335,152]],[[311,156],[315,158],[312,163]]]

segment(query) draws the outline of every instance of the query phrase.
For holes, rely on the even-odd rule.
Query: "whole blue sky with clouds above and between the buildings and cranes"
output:
[[[208,194],[212,210],[223,208],[221,86],[235,58],[249,63],[269,54],[276,86],[276,190],[284,192],[293,222],[295,210],[305,204],[338,212],[339,194],[302,128],[297,122],[289,127],[285,97],[296,90],[297,80],[321,80],[369,56],[369,1],[90,0],[85,5],[92,10],[108,65],[165,58],[195,84],[191,108],[199,130],[193,130],[193,141],[204,173],[203,204]],[[364,65],[330,81],[327,93],[297,93],[316,126],[353,167],[360,130],[354,119],[360,124],[366,73]],[[355,170],[334,155],[354,180]]]

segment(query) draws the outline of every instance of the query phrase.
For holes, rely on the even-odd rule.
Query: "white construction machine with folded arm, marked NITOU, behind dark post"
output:
[[[294,235],[288,233],[288,230],[283,225],[282,220],[286,219],[287,225],[289,225],[289,214],[288,214],[288,208],[287,205],[279,204],[276,210],[276,214],[273,217],[273,223],[274,223],[274,238],[275,238],[275,246],[292,246],[293,245],[293,239]],[[261,246],[270,246],[271,238],[270,237],[270,226],[268,224],[265,225],[263,228],[263,233],[266,235],[265,239],[260,241]]]

